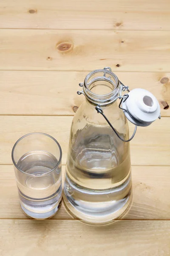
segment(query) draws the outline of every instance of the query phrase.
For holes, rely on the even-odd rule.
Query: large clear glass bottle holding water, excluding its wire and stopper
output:
[[[95,75],[97,82],[89,82]],[[94,74],[83,89],[86,99],[71,125],[63,199],[74,217],[89,224],[108,224],[130,207],[130,149],[95,106],[102,102],[103,112],[125,140],[129,138],[128,124],[117,100],[113,101],[119,94],[116,80],[99,81]]]

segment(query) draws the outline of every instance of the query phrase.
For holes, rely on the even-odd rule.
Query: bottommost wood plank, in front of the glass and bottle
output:
[[[74,220],[1,220],[1,256],[167,256],[170,221],[117,221],[91,227]]]

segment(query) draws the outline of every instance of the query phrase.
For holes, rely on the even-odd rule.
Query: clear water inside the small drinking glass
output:
[[[57,167],[57,158],[45,151],[31,151],[24,154],[17,166],[34,176],[20,172],[17,186],[23,211],[32,218],[49,218],[54,215],[61,203],[61,168]],[[46,174],[46,175],[45,175]]]

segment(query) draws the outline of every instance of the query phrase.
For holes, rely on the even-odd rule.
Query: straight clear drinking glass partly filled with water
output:
[[[26,215],[44,219],[54,215],[62,200],[62,150],[53,137],[31,133],[12,149],[20,205]]]

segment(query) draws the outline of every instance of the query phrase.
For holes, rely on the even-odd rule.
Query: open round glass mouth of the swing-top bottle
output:
[[[119,79],[110,68],[94,70],[85,77],[83,91],[94,105],[108,105],[117,99]]]

